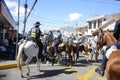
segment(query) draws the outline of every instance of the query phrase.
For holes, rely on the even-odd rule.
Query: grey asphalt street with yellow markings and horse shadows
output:
[[[9,63],[12,64],[12,61]],[[50,63],[41,64],[41,71],[38,72],[37,65],[30,64],[30,80],[106,80],[106,76],[101,77],[94,72],[98,65],[100,65],[100,61],[86,63],[84,59],[80,59],[79,62],[70,67],[67,66],[66,61],[62,61],[61,64],[54,66]],[[26,72],[27,68],[23,66],[25,78],[21,78],[20,72],[15,66],[10,69],[2,69],[0,70],[0,80],[26,80]]]

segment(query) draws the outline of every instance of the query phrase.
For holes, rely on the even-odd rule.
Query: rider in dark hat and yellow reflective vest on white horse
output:
[[[30,38],[31,40],[33,40],[35,43],[37,43],[38,47],[39,47],[39,54],[38,54],[38,58],[42,58],[42,51],[43,51],[43,44],[41,43],[40,40],[40,36],[41,36],[41,30],[39,28],[40,26],[40,22],[36,22],[34,24],[34,27],[32,27],[31,31],[30,31]]]

